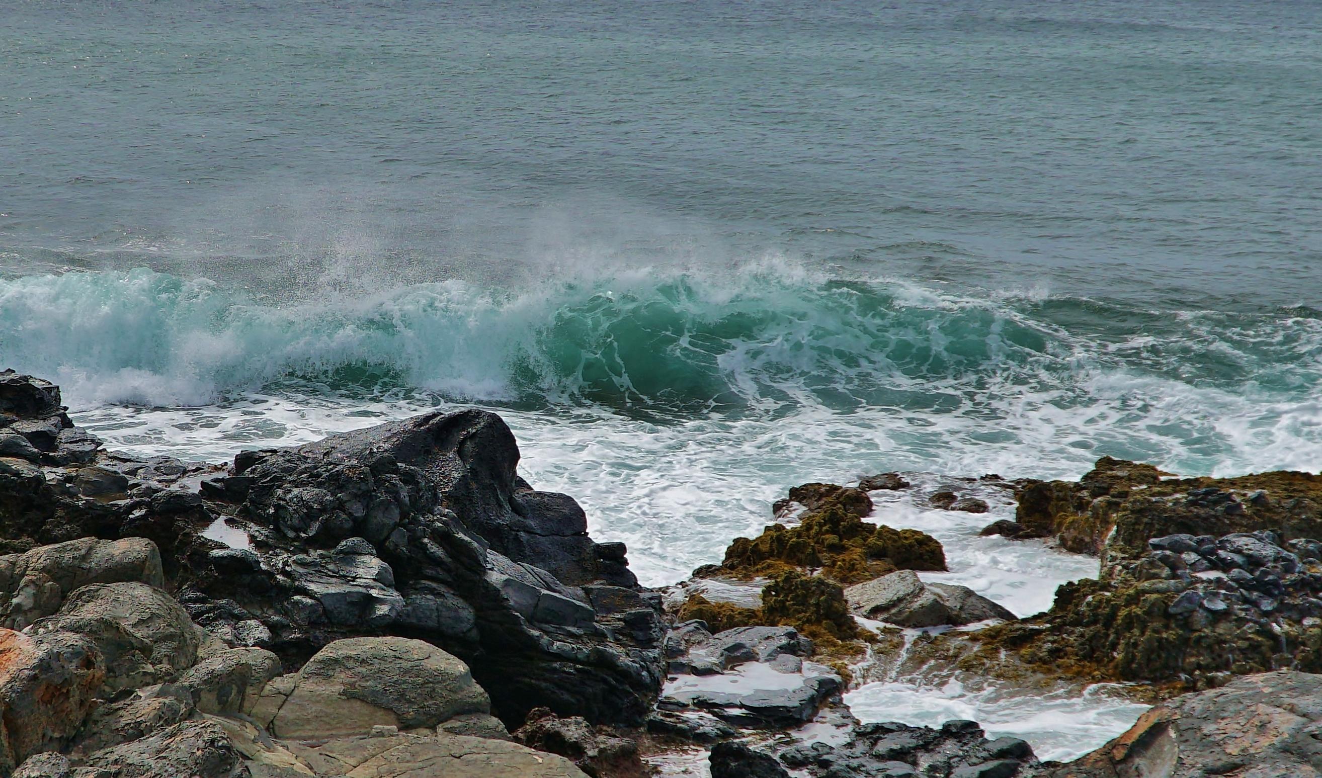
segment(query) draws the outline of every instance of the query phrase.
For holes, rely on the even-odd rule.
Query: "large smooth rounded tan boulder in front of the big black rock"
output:
[[[373,726],[431,729],[490,712],[467,664],[407,638],[336,641],[292,682],[267,684],[255,705],[254,717],[282,738],[368,734]]]

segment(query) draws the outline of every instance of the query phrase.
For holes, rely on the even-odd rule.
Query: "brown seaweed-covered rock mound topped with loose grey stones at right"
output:
[[[1310,543],[1294,547],[1311,553]],[[1274,532],[1178,534],[1149,546],[1137,559],[1108,555],[1099,580],[1060,586],[1044,616],[978,639],[1043,667],[1185,688],[1286,666],[1322,671],[1322,572]]]

